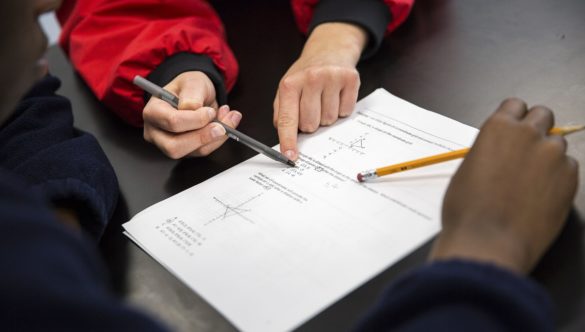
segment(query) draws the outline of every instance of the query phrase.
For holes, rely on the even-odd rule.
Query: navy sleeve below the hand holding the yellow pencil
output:
[[[402,277],[357,331],[553,331],[550,299],[492,265],[436,262]]]

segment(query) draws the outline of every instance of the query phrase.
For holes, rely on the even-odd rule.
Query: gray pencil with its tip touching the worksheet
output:
[[[137,86],[139,86],[140,88],[142,88],[144,91],[150,93],[151,95],[166,101],[167,103],[169,103],[171,106],[173,106],[174,108],[179,108],[179,98],[177,96],[175,96],[174,94],[170,93],[169,91],[161,88],[160,86],[152,83],[151,81],[145,79],[142,76],[136,75],[136,77],[134,77],[134,84],[136,84]],[[257,140],[253,139],[252,137],[237,131],[231,127],[229,127],[228,125],[221,123],[218,120],[214,120],[214,122],[219,123],[220,125],[222,125],[225,128],[225,132],[226,135],[231,138],[234,139],[242,144],[244,144],[245,146],[251,148],[252,150],[261,153],[265,156],[267,156],[268,158],[272,159],[272,160],[276,160],[279,161],[283,164],[287,164],[289,166],[295,166],[295,162],[288,159],[287,157],[285,157],[282,153],[272,149],[271,147],[262,144],[260,142],[258,142]]]

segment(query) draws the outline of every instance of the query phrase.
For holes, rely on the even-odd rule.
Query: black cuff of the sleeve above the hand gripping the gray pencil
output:
[[[227,91],[223,77],[207,55],[187,52],[174,54],[156,67],[148,75],[148,79],[159,86],[165,86],[179,74],[187,71],[200,71],[205,73],[215,87],[217,103],[219,105],[227,104]],[[150,94],[145,93],[145,102],[148,99],[150,99]]]

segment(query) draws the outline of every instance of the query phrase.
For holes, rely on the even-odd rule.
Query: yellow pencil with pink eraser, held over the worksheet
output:
[[[550,135],[568,135],[585,129],[585,125],[555,127],[549,131]],[[437,154],[434,156],[424,157],[404,163],[394,164],[390,166],[380,167],[368,171],[358,173],[357,179],[359,182],[375,179],[380,176],[408,171],[411,169],[434,165],[445,161],[463,158],[469,152],[469,148],[450,151],[446,153]]]

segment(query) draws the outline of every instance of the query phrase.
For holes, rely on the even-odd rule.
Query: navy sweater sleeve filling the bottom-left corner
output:
[[[105,287],[90,241],[0,169],[3,331],[162,331]]]

